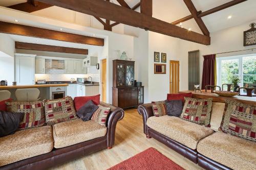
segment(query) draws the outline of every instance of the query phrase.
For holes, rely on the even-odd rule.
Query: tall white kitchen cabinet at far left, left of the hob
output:
[[[17,85],[35,84],[35,55],[15,55],[15,81]]]

